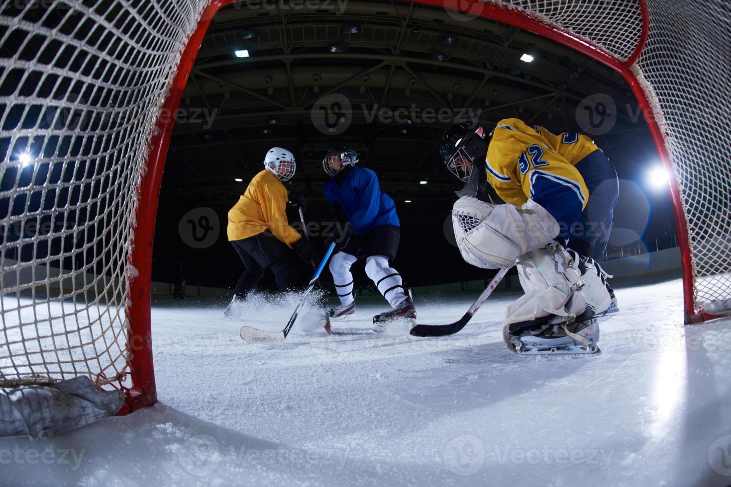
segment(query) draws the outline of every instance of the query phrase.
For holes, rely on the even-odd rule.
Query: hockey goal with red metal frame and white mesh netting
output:
[[[230,3],[3,2],[0,386],[88,375],[126,390],[126,410],[155,401],[151,242],[169,115]],[[621,72],[673,169],[686,321],[731,312],[726,1],[419,3],[526,28]]]

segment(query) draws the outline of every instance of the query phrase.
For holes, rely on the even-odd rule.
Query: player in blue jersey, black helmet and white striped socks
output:
[[[350,267],[365,258],[366,275],[393,307],[373,318],[374,331],[383,331],[389,321],[415,320],[416,310],[401,275],[389,264],[401,239],[395,204],[381,191],[376,173],[356,167],[357,161],[355,150],[342,146],[328,150],[322,159],[322,168],[331,176],[322,192],[338,218],[348,223],[343,234],[331,237],[340,243],[338,253],[330,260],[330,272],[341,305],[329,310],[327,318],[343,319],[355,312]]]

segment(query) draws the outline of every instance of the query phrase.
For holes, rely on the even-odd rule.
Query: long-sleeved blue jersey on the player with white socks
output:
[[[396,205],[381,191],[378,176],[365,167],[346,167],[322,186],[330,207],[339,204],[354,227],[356,235],[376,226],[400,226]]]

